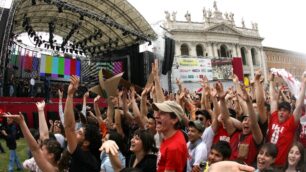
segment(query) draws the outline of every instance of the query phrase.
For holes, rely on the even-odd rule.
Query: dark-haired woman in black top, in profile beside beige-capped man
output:
[[[141,169],[146,172],[156,171],[157,148],[154,137],[149,131],[137,130],[131,139],[130,151],[134,153],[129,167]]]

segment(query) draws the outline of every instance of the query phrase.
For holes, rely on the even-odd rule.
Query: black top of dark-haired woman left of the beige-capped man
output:
[[[133,167],[135,161],[135,155],[132,155],[129,167]],[[143,172],[156,172],[156,161],[157,156],[154,154],[147,154],[143,159],[136,165],[135,168],[141,169]]]

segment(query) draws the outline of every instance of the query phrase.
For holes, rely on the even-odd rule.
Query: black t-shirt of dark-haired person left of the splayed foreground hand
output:
[[[83,151],[80,146],[77,146],[71,157],[72,159],[69,168],[69,171],[71,172],[100,171],[100,165],[97,159],[89,151]]]

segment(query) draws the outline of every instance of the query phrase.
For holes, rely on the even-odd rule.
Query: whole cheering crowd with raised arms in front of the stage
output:
[[[265,82],[260,71],[248,88],[233,75],[234,85],[227,89],[204,77],[200,92],[178,79],[179,90],[171,93],[162,89],[158,69],[155,61],[154,80],[141,93],[133,86],[118,88],[116,96],[107,97],[106,108],[99,107],[100,95],[88,107],[88,92],[82,108],[75,107],[80,81],[72,76],[64,106],[58,92],[58,120],[47,122],[45,102],[36,104],[38,131],[29,130],[22,114],[4,113],[8,170],[17,164],[44,172],[306,171],[306,126],[300,122],[305,75],[297,98],[276,83],[277,76]],[[15,156],[14,122],[31,152],[23,163]]]

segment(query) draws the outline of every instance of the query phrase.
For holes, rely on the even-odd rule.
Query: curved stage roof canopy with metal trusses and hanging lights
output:
[[[57,47],[82,49],[86,54],[148,42],[156,34],[127,0],[15,0],[14,34],[38,32],[63,37]],[[68,45],[68,42],[73,44]]]

